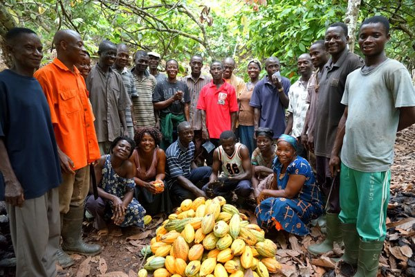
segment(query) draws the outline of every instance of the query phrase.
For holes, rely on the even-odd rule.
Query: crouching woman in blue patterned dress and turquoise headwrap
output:
[[[323,213],[320,190],[310,164],[295,152],[296,139],[282,134],[277,148],[273,185],[259,193],[257,222],[264,229],[307,235],[306,224]]]

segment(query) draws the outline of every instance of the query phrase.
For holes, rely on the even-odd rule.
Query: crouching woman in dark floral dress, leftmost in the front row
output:
[[[118,136],[111,144],[111,154],[103,155],[94,166],[99,197],[95,200],[90,195],[85,208],[95,217],[93,226],[100,235],[108,233],[106,220],[110,218],[121,227],[144,227],[145,209],[133,198],[133,164],[128,160],[134,146],[127,136]]]

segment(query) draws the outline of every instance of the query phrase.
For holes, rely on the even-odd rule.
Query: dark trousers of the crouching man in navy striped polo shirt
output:
[[[208,166],[202,166],[200,168],[194,168],[190,171],[190,176],[187,177],[189,181],[191,181],[195,186],[202,189],[203,186],[208,183],[209,177],[212,174],[212,168]],[[190,190],[183,188],[178,182],[175,180],[174,183],[169,188],[170,191],[170,198],[172,202],[175,204],[181,204],[181,202],[185,199],[196,199],[196,195],[194,195]]]

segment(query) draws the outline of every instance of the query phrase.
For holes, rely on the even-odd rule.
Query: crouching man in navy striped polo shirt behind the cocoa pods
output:
[[[202,187],[208,183],[212,168],[196,167],[193,162],[193,127],[183,121],[177,126],[178,139],[166,150],[166,180],[172,202],[180,204],[184,199],[206,197]]]

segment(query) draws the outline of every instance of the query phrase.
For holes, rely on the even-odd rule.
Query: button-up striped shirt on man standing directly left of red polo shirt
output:
[[[212,78],[207,75],[201,74],[196,80],[192,77],[192,74],[185,76],[182,82],[187,84],[190,94],[190,123],[193,129],[202,129],[201,110],[197,109],[197,101],[201,93],[201,89],[208,84]]]

